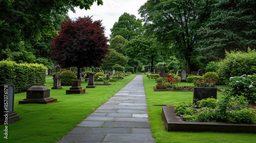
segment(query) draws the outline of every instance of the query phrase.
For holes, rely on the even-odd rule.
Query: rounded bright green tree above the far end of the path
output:
[[[155,38],[139,35],[126,42],[124,49],[131,59],[144,64],[150,63],[153,71],[154,61],[161,55],[159,45]]]

